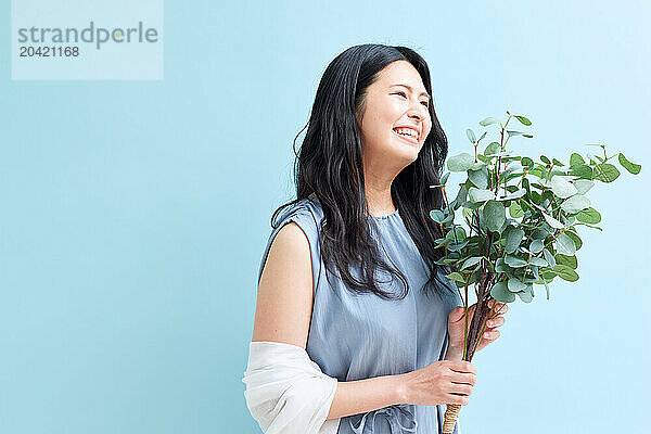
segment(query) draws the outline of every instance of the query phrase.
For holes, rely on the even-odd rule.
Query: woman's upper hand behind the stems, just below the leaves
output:
[[[503,326],[506,319],[503,315],[509,310],[509,306],[505,303],[497,302],[496,299],[492,299],[488,303],[488,307],[493,307],[493,312],[490,314],[490,319],[486,322],[486,329],[484,330],[484,335],[477,345],[476,352],[486,347],[492,342],[495,342],[500,332],[497,330],[499,327]],[[472,319],[473,312],[476,308],[476,303],[468,308],[468,327],[470,328],[470,321]],[[457,306],[454,308],[448,315],[448,333],[450,336],[449,347],[456,348],[463,354],[463,343],[464,343],[464,334],[465,334],[465,315],[463,312],[463,306]]]

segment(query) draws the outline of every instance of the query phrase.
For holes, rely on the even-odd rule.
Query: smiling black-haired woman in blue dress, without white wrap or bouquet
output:
[[[444,206],[430,186],[447,155],[431,94],[427,64],[408,48],[336,56],[297,155],[296,200],[271,219],[252,344],[304,350],[336,379],[331,432],[439,433],[443,405],[467,405],[475,384],[461,360],[461,301],[436,264],[441,230],[429,217]],[[503,322],[493,319],[478,348]]]

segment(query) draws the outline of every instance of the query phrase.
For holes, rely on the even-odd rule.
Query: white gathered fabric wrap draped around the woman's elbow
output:
[[[265,434],[336,434],[340,419],[326,420],[337,380],[307,352],[281,342],[251,342],[242,382],[251,416]]]

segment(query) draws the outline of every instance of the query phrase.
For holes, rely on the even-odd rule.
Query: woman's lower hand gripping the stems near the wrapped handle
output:
[[[464,360],[441,360],[404,373],[401,404],[437,406],[467,405],[476,383],[477,369]]]

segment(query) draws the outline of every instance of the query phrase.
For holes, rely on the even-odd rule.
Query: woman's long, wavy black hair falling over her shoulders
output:
[[[385,299],[405,298],[409,292],[409,283],[393,263],[388,265],[382,259],[379,245],[370,231],[369,224],[374,225],[374,220],[369,218],[361,133],[356,114],[361,117],[365,112],[367,88],[378,79],[385,66],[396,61],[407,61],[413,65],[426,91],[432,94],[426,62],[406,47],[374,43],[355,46],[339,54],[328,65],[317,89],[306,125],[307,132],[294,163],[296,199],[278,207],[271,216],[271,227],[276,229],[279,224],[275,222],[276,217],[283,208],[316,193],[323,209],[319,243],[327,270],[333,275],[339,270],[340,278],[348,290],[356,293],[372,292]],[[430,269],[430,278],[422,288],[425,294],[430,292],[429,283],[434,280],[442,288],[454,291],[437,277],[441,266],[435,261],[441,259],[444,252],[442,247],[434,248],[434,240],[442,237],[442,231],[430,218],[431,209],[444,206],[441,189],[430,186],[438,184],[441,179],[448,150],[447,138],[433,104],[429,104],[429,112],[432,129],[418,158],[396,176],[391,187],[394,204]],[[361,280],[352,275],[352,265],[359,267]],[[395,296],[376,285],[374,277],[378,268],[403,282],[404,292],[400,295]],[[327,278],[330,282],[328,272]]]

